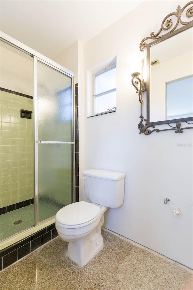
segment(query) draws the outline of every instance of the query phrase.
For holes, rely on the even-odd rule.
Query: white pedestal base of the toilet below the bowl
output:
[[[67,256],[76,264],[85,266],[103,248],[103,237],[94,230],[89,236],[68,243]]]

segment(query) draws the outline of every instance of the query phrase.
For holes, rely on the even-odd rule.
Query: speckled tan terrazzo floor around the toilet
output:
[[[192,273],[103,231],[104,248],[86,266],[66,257],[59,237],[3,270],[1,290],[191,290]],[[189,284],[189,286],[187,286]]]

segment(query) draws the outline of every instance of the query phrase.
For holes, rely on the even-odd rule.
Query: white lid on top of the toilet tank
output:
[[[82,172],[84,176],[91,176],[102,179],[109,180],[119,180],[125,177],[125,173],[108,171],[108,170],[100,170],[100,169],[88,169]]]

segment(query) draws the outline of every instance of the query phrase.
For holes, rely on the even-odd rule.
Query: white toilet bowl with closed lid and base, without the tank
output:
[[[106,209],[79,201],[56,214],[56,230],[62,240],[69,242],[67,256],[79,266],[86,265],[103,248],[101,227]]]

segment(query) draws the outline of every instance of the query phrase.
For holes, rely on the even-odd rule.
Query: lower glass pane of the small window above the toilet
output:
[[[116,107],[116,91],[95,97],[95,114],[106,112]]]

